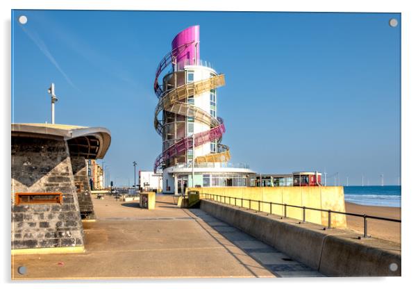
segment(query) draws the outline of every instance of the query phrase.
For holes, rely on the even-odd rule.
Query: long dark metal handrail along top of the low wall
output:
[[[225,199],[228,198],[228,203],[230,205],[231,205],[231,198],[233,198],[235,206],[237,206],[237,199],[239,199],[241,201],[241,206],[239,206],[239,207],[241,207],[241,208],[246,208],[246,207],[243,206],[243,204],[244,204],[243,201],[249,201],[249,209],[250,210],[253,210],[251,208],[251,201],[257,201],[258,202],[258,210],[256,210],[256,211],[258,211],[258,212],[261,212],[260,204],[269,204],[270,205],[270,210],[269,210],[270,215],[277,215],[277,214],[272,213],[272,206],[273,205],[283,206],[284,207],[284,216],[282,216],[282,217],[287,217],[287,207],[301,208],[301,209],[303,209],[303,222],[306,222],[306,210],[317,210],[317,211],[320,211],[320,212],[325,212],[325,213],[328,213],[328,229],[332,229],[331,228],[331,214],[342,214],[342,215],[349,215],[349,216],[354,216],[354,217],[362,217],[363,218],[363,238],[369,238],[369,236],[367,235],[367,219],[401,223],[401,220],[392,219],[390,217],[378,217],[378,216],[366,215],[366,214],[340,212],[340,211],[337,211],[337,210],[325,210],[323,208],[311,208],[311,207],[306,207],[306,206],[296,206],[296,205],[290,205],[290,204],[275,203],[273,201],[261,201],[261,200],[254,200],[254,199],[244,199],[244,198],[237,198],[237,197],[230,197],[230,196],[214,195],[214,194],[208,194],[206,192],[203,192],[201,195],[204,195],[205,199],[208,199],[206,196],[209,196],[209,199],[211,199],[212,201],[215,201],[215,197],[216,197],[216,201],[218,201],[218,197],[220,197],[220,200],[222,200],[222,197],[224,197],[223,202],[218,201],[219,203],[223,203],[223,204],[226,204]],[[267,213],[267,212],[265,212],[265,213]]]

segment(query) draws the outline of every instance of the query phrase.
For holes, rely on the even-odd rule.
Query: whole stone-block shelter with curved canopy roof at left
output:
[[[87,164],[110,140],[101,127],[12,124],[12,254],[83,251],[81,220],[96,218]]]

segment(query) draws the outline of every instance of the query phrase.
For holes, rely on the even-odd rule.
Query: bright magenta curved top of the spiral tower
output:
[[[172,41],[172,49],[176,56],[177,69],[183,69],[184,65],[199,64],[199,25],[190,26],[178,33]]]

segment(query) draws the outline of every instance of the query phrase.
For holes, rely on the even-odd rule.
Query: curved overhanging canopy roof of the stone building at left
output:
[[[110,131],[103,127],[67,124],[12,124],[12,136],[64,139],[72,156],[103,158],[110,147]]]

